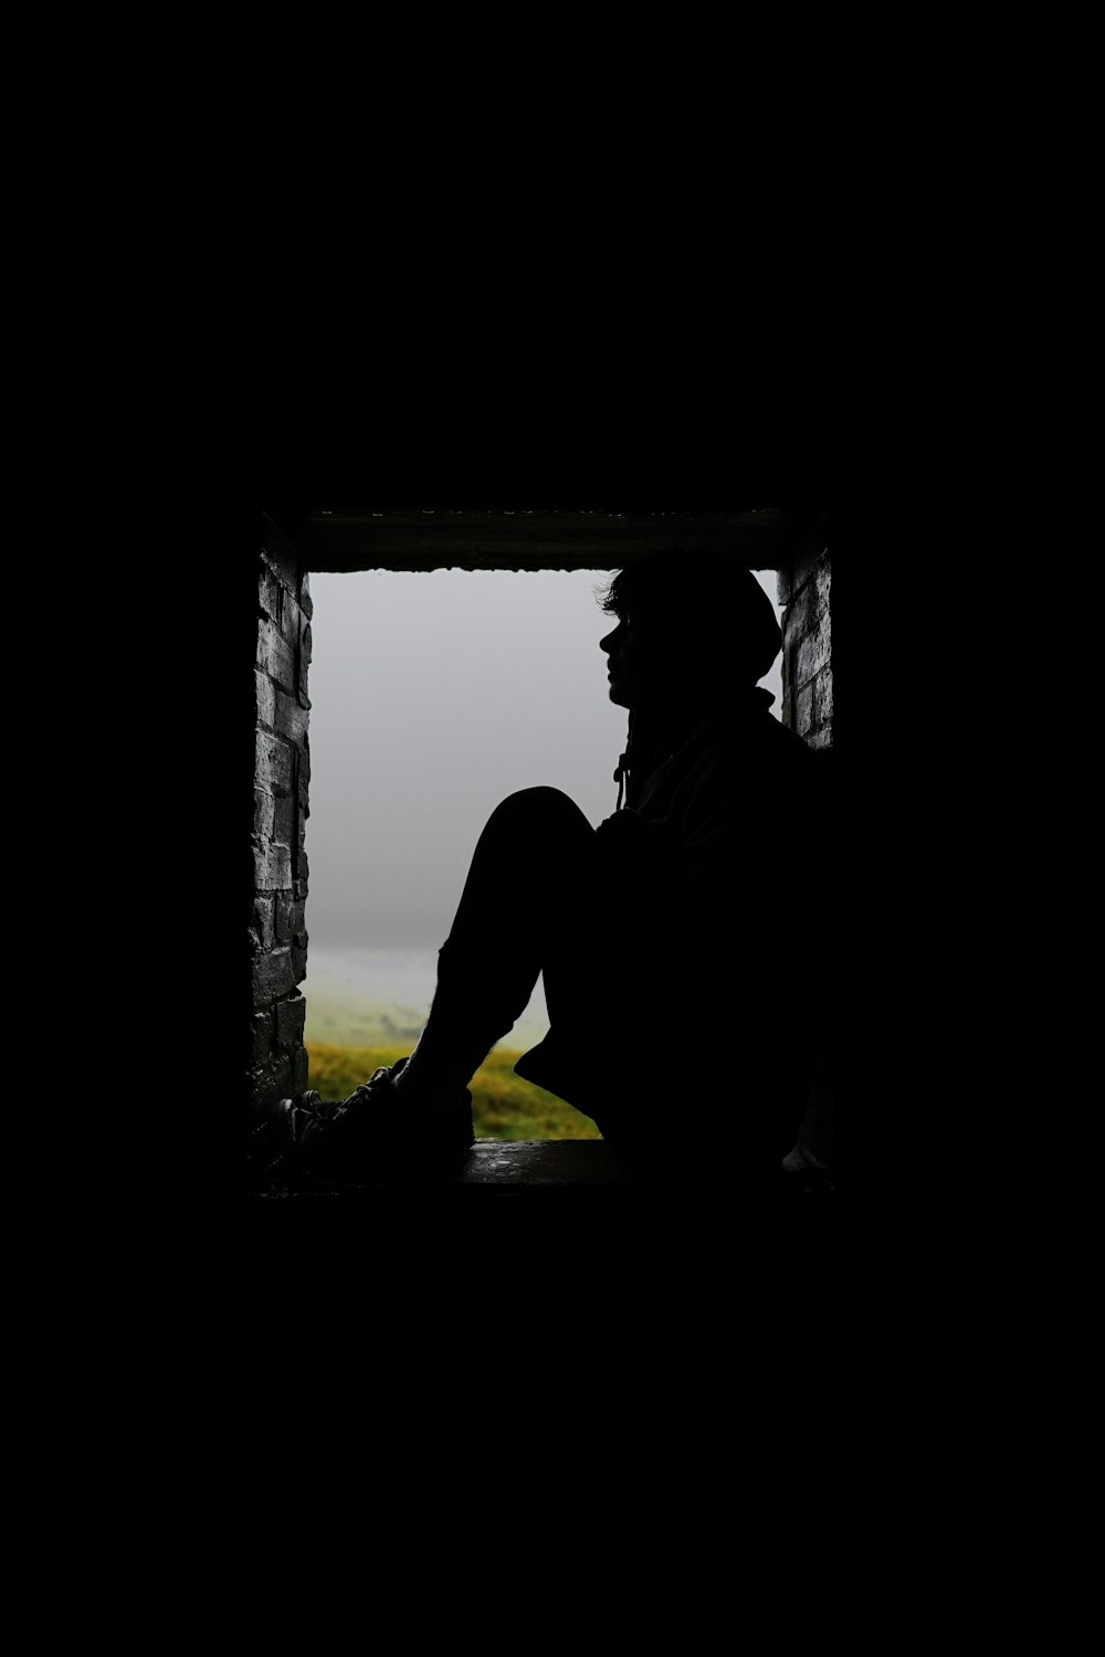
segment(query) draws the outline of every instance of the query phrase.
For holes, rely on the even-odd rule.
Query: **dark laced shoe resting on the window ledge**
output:
[[[454,1110],[422,1115],[399,1102],[396,1077],[406,1059],[379,1065],[348,1099],[316,1092],[280,1099],[268,1110],[277,1173],[320,1180],[389,1180],[452,1175],[475,1143],[472,1095]]]

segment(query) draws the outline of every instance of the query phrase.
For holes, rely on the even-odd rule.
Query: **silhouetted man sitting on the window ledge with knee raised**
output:
[[[727,1183],[777,1181],[810,1085],[787,951],[813,756],[757,689],[782,645],[775,611],[734,560],[678,550],[621,570],[603,608],[610,699],[630,711],[618,809],[593,828],[560,790],[525,789],[492,812],[414,1052],[346,1100],[280,1100],[290,1168],[462,1162],[467,1082],[543,973],[550,1031],[519,1075],[644,1170],[692,1133]]]

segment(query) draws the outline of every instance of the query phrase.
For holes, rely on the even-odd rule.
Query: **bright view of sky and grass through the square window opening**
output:
[[[606,696],[610,570],[311,575],[305,1042],[343,1097],[409,1052],[469,858],[507,794],[550,784],[598,824],[626,713]],[[774,572],[757,580],[777,605]],[[782,716],[782,658],[760,681]],[[519,893],[524,901],[525,893]],[[504,931],[510,916],[504,915]],[[514,1075],[548,1027],[542,983],[472,1082],[477,1135],[598,1137]]]

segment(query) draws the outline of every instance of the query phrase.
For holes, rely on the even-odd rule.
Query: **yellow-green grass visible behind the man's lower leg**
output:
[[[308,1041],[308,1087],[323,1099],[345,1099],[378,1064],[394,1064],[408,1047],[335,1047]],[[514,1074],[517,1052],[495,1047],[469,1082],[477,1138],[601,1138],[590,1117],[543,1087]]]

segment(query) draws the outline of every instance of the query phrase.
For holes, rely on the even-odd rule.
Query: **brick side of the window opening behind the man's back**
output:
[[[832,951],[840,936],[837,875],[837,802],[833,747],[832,553],[828,519],[779,572],[784,615],[782,716],[820,756],[820,794],[810,824],[808,863],[787,878],[803,882],[802,935],[794,938],[795,1017],[817,1024],[817,1065],[810,1104],[799,1130],[795,1165],[812,1165],[832,1180],[843,1173],[837,1143],[837,973]]]

